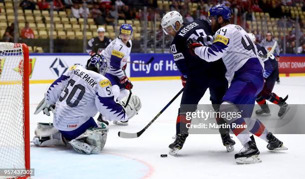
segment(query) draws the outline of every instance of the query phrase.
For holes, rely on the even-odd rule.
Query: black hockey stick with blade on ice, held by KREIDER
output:
[[[182,93],[183,88],[176,94],[176,96],[174,96],[167,104],[166,106],[152,119],[152,121],[145,126],[145,128],[143,128],[141,131],[137,132],[137,133],[126,133],[126,132],[119,132],[118,135],[120,138],[126,138],[126,139],[131,139],[131,138],[138,138],[140,137],[144,131],[147,130],[147,128],[149,128],[152,123],[165,111],[165,109]]]

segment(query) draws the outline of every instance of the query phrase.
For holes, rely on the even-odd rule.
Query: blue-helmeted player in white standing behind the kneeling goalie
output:
[[[131,24],[122,24],[120,26],[119,37],[113,40],[102,55],[108,61],[109,71],[105,76],[110,80],[114,100],[120,101],[125,96],[129,95],[129,90],[133,88],[133,84],[125,74],[127,59],[130,56],[132,48],[133,27]],[[103,116],[103,120],[108,120]],[[114,121],[114,124],[128,125],[128,121]]]

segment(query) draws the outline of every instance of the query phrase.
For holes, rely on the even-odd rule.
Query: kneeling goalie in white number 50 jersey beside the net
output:
[[[49,116],[52,110],[53,124],[38,123],[33,139],[35,145],[65,146],[69,141],[79,153],[100,153],[106,143],[108,127],[94,121],[97,112],[110,121],[127,121],[141,109],[141,101],[135,95],[126,107],[127,97],[118,103],[114,101],[111,83],[103,76],[107,70],[107,60],[96,54],[88,60],[86,69],[72,66],[50,85],[34,114],[43,111]]]

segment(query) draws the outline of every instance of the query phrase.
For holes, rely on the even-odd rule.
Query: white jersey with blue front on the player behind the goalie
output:
[[[129,40],[128,42],[130,47],[127,47],[121,39],[116,38],[102,51],[102,55],[107,59],[110,66],[107,73],[120,79],[125,76],[122,67],[126,64],[132,48],[132,41]]]

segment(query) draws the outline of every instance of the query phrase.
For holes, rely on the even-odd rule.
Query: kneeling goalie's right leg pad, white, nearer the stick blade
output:
[[[98,128],[89,128],[79,137],[71,140],[69,144],[82,154],[99,154],[104,149],[107,140],[108,127],[99,123]]]

